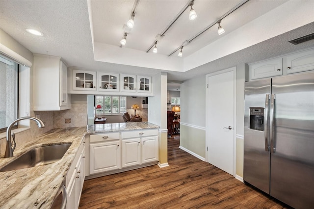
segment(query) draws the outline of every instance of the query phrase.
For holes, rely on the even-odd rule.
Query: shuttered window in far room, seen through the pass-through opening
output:
[[[127,97],[95,96],[95,106],[97,104],[102,106],[102,108],[96,109],[97,114],[114,115],[127,111]]]

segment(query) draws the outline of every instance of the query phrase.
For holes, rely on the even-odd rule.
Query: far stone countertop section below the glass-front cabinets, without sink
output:
[[[104,133],[117,131],[133,131],[141,129],[158,129],[159,126],[149,122],[107,123],[88,125],[87,133]]]

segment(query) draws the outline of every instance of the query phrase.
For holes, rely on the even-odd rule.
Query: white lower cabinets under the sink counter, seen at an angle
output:
[[[78,209],[84,183],[85,142],[79,148],[77,156],[69,169],[66,179],[67,209]]]

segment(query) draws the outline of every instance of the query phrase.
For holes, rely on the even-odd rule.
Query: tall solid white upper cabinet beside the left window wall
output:
[[[67,66],[60,57],[34,54],[33,110],[70,109]]]

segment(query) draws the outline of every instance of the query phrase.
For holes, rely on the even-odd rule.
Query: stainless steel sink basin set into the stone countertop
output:
[[[2,167],[0,172],[51,164],[60,160],[70,146],[71,143],[34,148]]]

